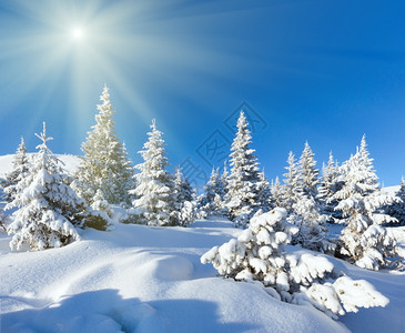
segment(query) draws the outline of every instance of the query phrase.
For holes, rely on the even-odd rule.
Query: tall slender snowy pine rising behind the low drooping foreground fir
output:
[[[241,111],[237,132],[231,147],[231,174],[226,193],[229,216],[240,226],[249,222],[261,204],[257,193],[259,163],[254,149],[250,148],[252,137],[247,125]]]

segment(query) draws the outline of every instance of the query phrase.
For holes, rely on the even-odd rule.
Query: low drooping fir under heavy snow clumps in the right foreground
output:
[[[237,239],[212,248],[201,262],[212,263],[226,278],[260,281],[273,297],[310,303],[333,317],[388,303],[371,284],[353,281],[325,256],[287,253],[284,246],[297,228],[286,221],[286,215],[282,208],[255,215]]]

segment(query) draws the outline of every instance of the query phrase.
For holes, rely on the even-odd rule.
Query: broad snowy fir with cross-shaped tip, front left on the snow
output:
[[[14,200],[6,206],[18,208],[8,226],[8,233],[13,235],[10,246],[17,250],[24,245],[31,250],[60,248],[79,240],[74,226],[99,219],[70,188],[72,179],[63,173],[61,161],[48,148],[52,138],[47,138],[45,123],[42,133],[36,135],[42,143],[37,147],[30,173],[18,183]]]

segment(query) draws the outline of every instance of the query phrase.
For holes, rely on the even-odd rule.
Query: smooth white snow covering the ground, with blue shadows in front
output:
[[[0,176],[9,171],[4,161],[12,158],[0,157]],[[80,242],[40,252],[11,252],[11,236],[1,233],[0,332],[403,332],[403,273],[366,271],[330,258],[391,301],[334,321],[200,263],[212,246],[241,233],[214,218],[190,228],[115,221],[111,231],[87,229]]]

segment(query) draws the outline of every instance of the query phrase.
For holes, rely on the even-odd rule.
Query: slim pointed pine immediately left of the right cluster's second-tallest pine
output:
[[[298,201],[303,190],[298,167],[292,151],[288,154],[287,163],[288,165],[285,167],[287,172],[284,173],[283,198],[281,200],[281,204],[288,213],[291,213],[293,212],[294,203]]]

